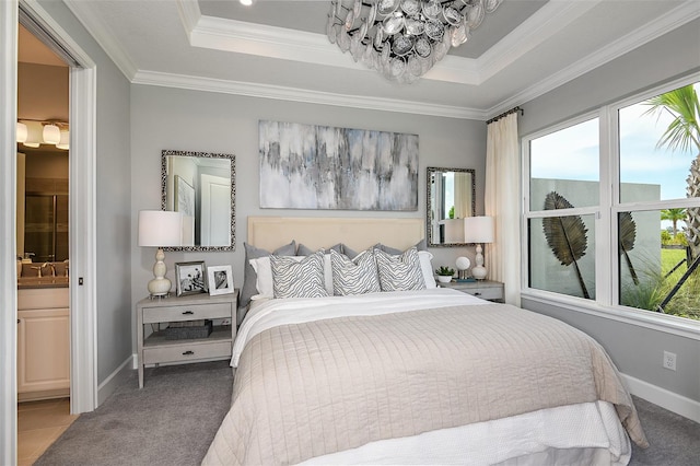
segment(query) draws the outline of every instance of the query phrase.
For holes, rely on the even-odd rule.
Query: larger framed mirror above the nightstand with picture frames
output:
[[[183,246],[235,251],[235,155],[161,152],[161,209],[183,212]]]

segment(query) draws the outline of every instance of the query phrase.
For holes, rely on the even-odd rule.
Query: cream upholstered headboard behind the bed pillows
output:
[[[248,217],[248,244],[273,251],[292,240],[311,249],[343,243],[354,251],[376,243],[406,249],[425,236],[422,218]]]

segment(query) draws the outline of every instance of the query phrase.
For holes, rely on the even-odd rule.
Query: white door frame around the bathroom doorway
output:
[[[16,463],[16,71],[19,8],[73,57],[70,68],[71,412],[97,407],[96,65],[36,1],[0,1],[0,463]]]

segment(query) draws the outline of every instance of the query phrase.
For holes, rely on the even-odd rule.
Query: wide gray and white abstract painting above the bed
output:
[[[418,210],[418,135],[259,121],[260,207]]]

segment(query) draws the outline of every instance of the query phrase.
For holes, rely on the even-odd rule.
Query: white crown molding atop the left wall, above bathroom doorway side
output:
[[[112,27],[96,14],[92,2],[81,0],[63,0],[66,7],[75,15],[80,24],[88,30],[100,47],[114,61],[121,73],[131,81],[137,73],[137,66],[115,39]]]

